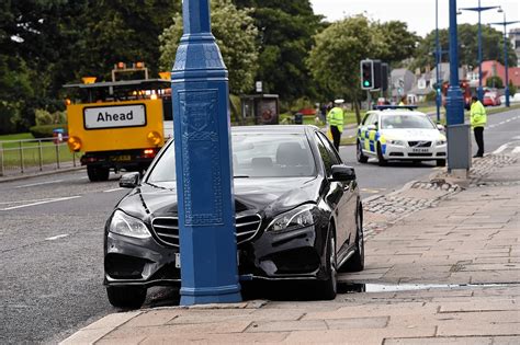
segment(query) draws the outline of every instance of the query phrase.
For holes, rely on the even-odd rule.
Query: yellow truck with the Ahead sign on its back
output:
[[[173,136],[168,78],[64,85],[67,100],[68,146],[83,152],[89,180],[106,181],[111,170],[143,172]],[[74,100],[74,101],[72,101]]]

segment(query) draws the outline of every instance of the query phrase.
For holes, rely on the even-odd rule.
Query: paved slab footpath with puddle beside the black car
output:
[[[120,312],[64,344],[520,344],[518,151],[369,200],[366,269],[334,301]]]

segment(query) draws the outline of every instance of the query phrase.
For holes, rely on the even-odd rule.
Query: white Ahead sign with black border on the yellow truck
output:
[[[84,129],[146,126],[144,104],[83,108]]]

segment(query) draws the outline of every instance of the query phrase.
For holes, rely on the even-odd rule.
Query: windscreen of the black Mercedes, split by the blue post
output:
[[[315,176],[316,164],[304,135],[239,133],[231,136],[235,177]],[[147,182],[176,181],[174,145],[152,166]]]

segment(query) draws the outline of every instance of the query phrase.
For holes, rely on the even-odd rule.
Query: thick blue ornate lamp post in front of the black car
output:
[[[237,302],[228,79],[208,0],[183,0],[171,73],[180,229],[181,304]]]

